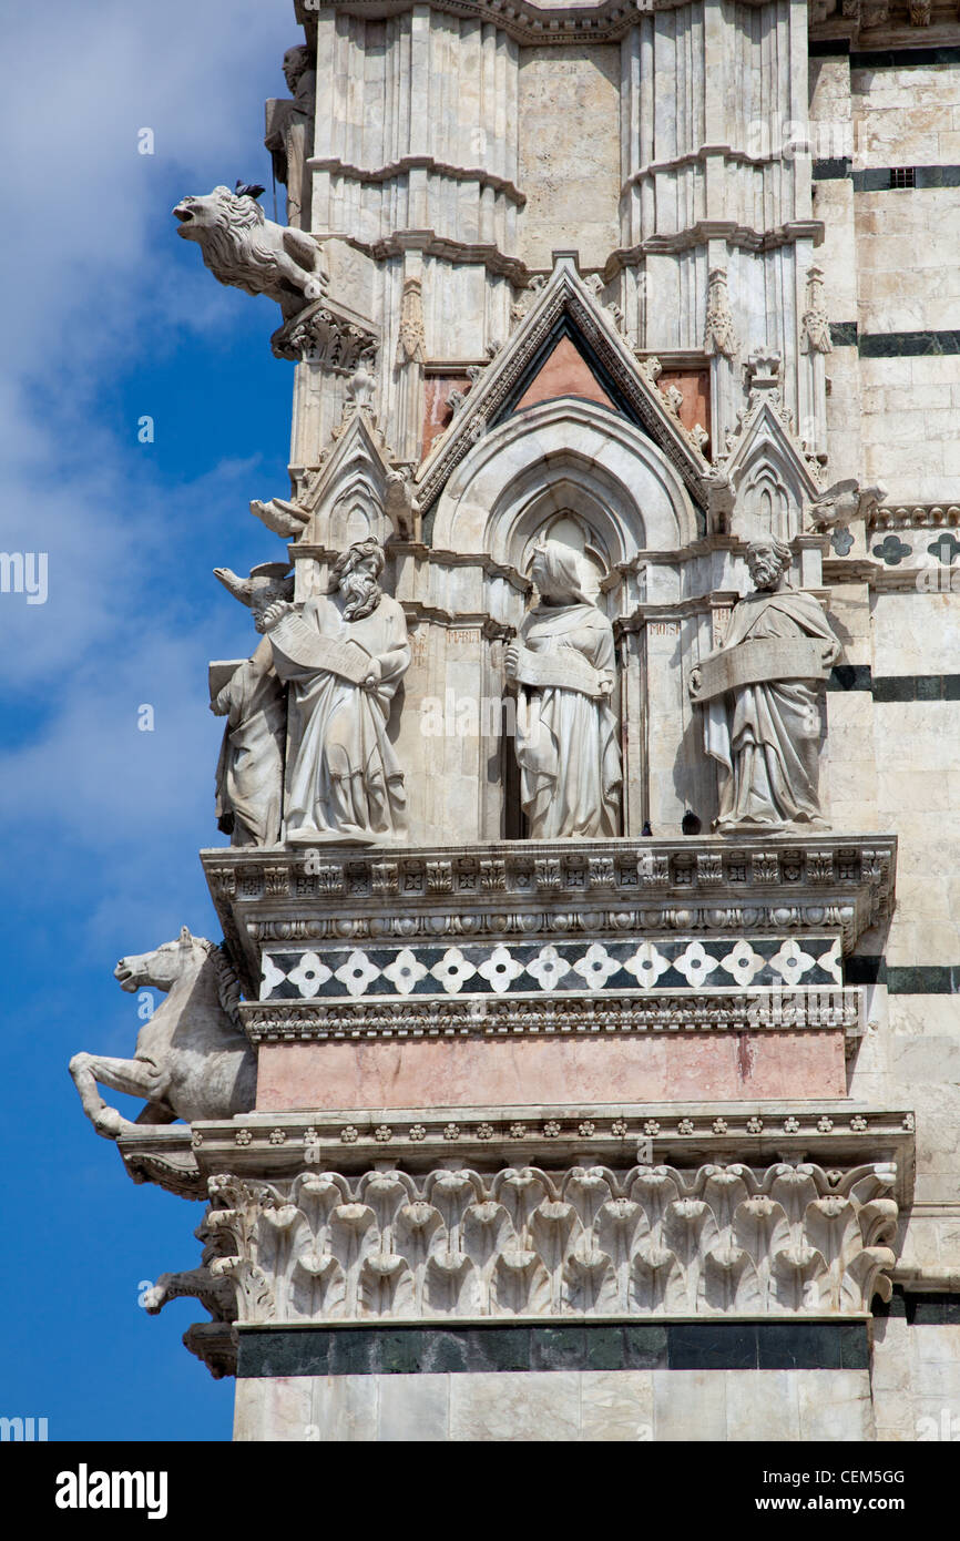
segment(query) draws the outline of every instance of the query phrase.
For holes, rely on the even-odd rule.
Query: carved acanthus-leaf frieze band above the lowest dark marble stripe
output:
[[[889,1299],[895,1168],[213,1177],[239,1322],[851,1316]]]

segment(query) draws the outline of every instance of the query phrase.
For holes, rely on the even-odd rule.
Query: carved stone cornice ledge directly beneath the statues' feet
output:
[[[498,841],[481,846],[296,846],[200,852],[247,992],[260,949],[422,935],[544,940],[564,935],[738,931],[840,934],[844,951],[889,915],[897,838],[829,831],[681,840]],[[532,911],[535,914],[532,914]]]

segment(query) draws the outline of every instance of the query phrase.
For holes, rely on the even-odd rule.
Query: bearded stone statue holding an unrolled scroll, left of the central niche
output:
[[[405,835],[404,775],[387,724],[411,650],[404,612],[378,582],[382,570],[379,542],[357,541],[333,564],[330,593],[302,609],[277,601],[259,623],[290,684],[287,838]]]

